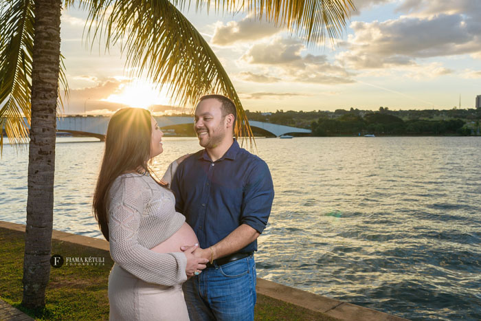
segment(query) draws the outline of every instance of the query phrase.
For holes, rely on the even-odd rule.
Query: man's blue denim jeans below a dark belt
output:
[[[254,256],[203,269],[183,283],[182,289],[190,320],[254,320]]]

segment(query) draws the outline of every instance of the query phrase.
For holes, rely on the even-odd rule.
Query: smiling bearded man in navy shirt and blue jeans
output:
[[[234,139],[232,100],[203,96],[194,117],[204,149],[179,164],[171,186],[176,210],[199,239],[194,254],[209,260],[183,284],[190,320],[254,320],[254,252],[271,212],[271,173]]]

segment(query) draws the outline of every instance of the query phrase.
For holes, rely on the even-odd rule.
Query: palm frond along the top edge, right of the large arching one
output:
[[[177,8],[190,7],[191,0],[172,0]],[[328,38],[342,36],[350,13],[355,10],[353,0],[197,0],[196,10],[216,12],[246,12],[254,19],[265,19],[278,27],[301,36],[307,43],[322,43]]]

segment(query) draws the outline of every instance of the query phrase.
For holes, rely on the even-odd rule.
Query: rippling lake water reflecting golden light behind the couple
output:
[[[54,228],[102,237],[91,195],[103,152],[59,138]],[[481,139],[258,139],[276,199],[258,276],[412,320],[481,320]],[[161,171],[194,138],[167,138]],[[25,223],[27,153],[3,148],[0,219]]]

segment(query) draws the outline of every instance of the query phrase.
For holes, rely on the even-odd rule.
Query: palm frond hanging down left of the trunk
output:
[[[34,3],[3,1],[0,14],[0,127],[17,145],[27,142],[30,122]]]

